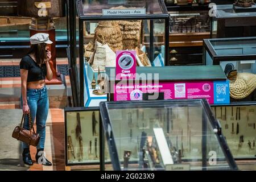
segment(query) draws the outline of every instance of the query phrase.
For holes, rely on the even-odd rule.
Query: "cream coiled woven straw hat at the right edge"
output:
[[[238,73],[235,81],[230,81],[230,97],[242,99],[256,89],[256,75],[253,73]]]

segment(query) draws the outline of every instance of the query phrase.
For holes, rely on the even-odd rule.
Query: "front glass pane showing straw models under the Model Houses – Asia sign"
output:
[[[137,66],[163,67],[165,57],[165,20],[90,20],[84,21],[84,61],[89,65],[89,80],[98,68],[115,67],[115,53],[137,52]],[[114,31],[111,34],[111,31]],[[108,46],[106,46],[106,44]],[[102,51],[99,52],[99,49]],[[99,56],[100,53],[102,56]]]

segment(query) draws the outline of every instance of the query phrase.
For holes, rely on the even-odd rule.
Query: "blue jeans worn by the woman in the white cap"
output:
[[[36,133],[40,134],[40,140],[36,148],[44,148],[44,142],[46,140],[46,119],[49,110],[46,86],[42,89],[27,89],[27,105],[30,108],[32,123],[34,124],[34,121],[36,120]],[[24,129],[29,129],[27,115],[23,127]],[[29,148],[28,144],[23,142],[23,148]]]

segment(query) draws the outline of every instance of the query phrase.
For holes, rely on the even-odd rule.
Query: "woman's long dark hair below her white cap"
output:
[[[46,43],[32,44],[28,54],[33,54],[38,65],[44,64],[46,61]]]

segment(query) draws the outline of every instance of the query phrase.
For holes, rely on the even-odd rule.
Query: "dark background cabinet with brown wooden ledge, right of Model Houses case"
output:
[[[202,65],[203,39],[210,38],[209,1],[166,4],[170,15],[170,65]]]

